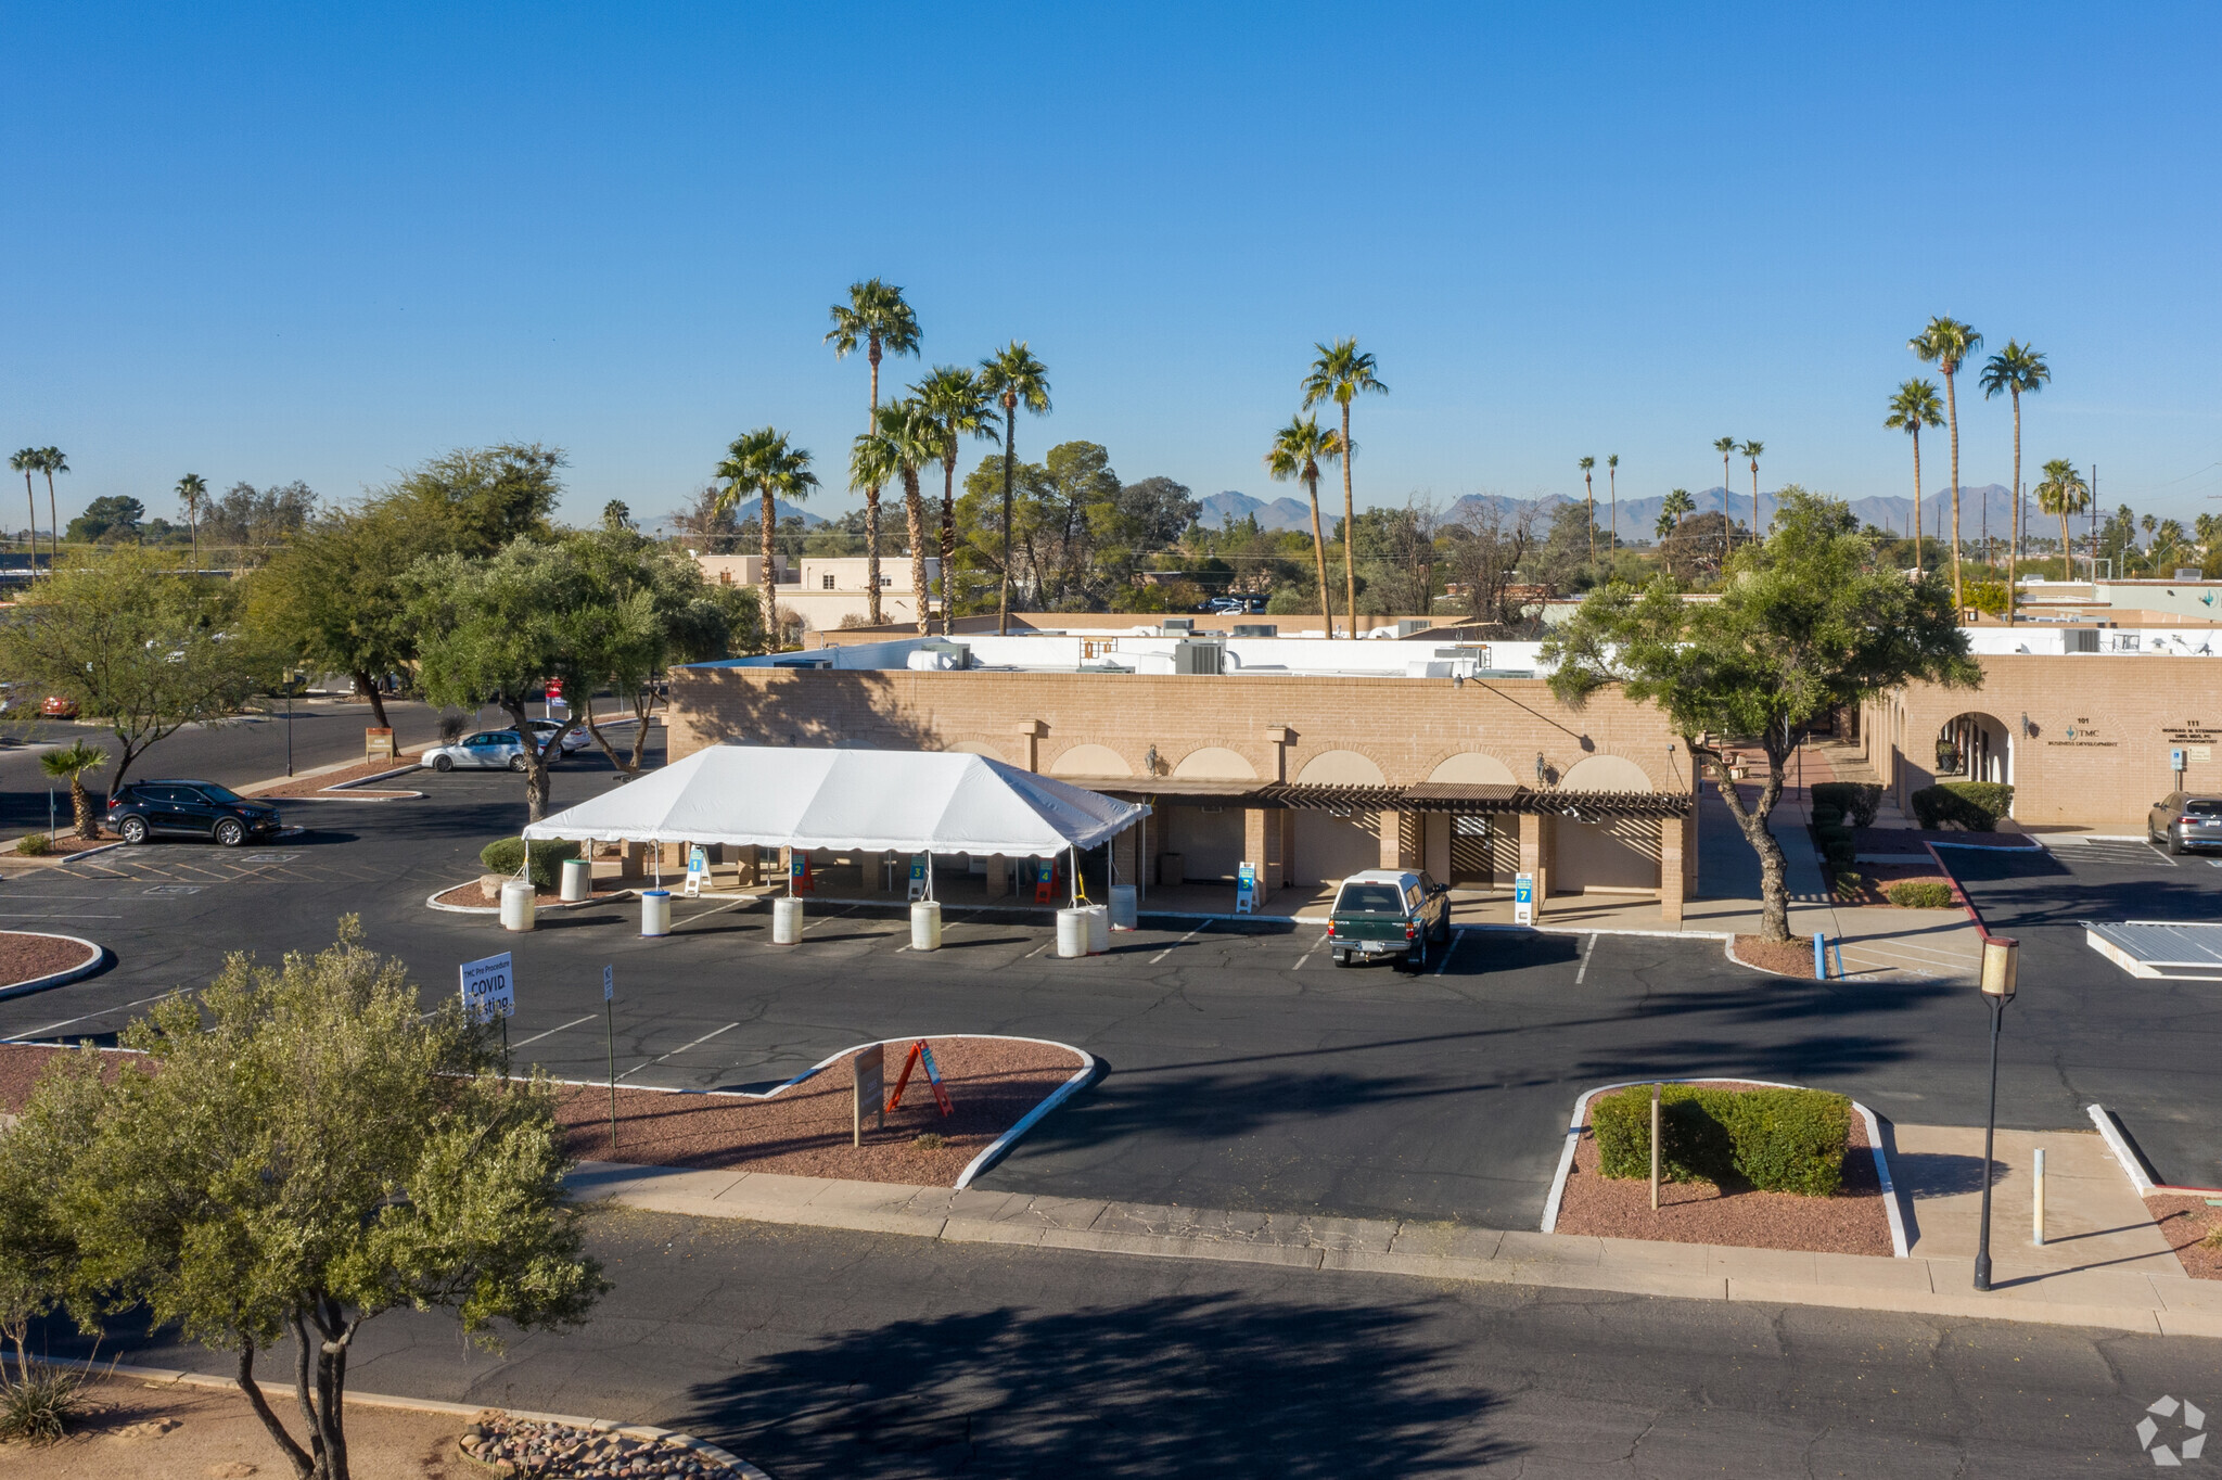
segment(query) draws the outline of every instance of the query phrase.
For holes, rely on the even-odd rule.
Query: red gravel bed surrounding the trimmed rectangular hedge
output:
[[[1738,1084],[1724,1084],[1738,1089]],[[1647,1178],[1607,1178],[1598,1171],[1598,1140],[1582,1127],[1573,1171],[1558,1204],[1558,1233],[1595,1238],[1653,1238],[1669,1244],[1724,1244],[1731,1249],[1804,1249],[1811,1253],[1891,1256],[1891,1216],[1882,1207],[1875,1158],[1866,1153],[1866,1122],[1851,1113],[1844,1184],[1833,1198],[1798,1193],[1722,1191],[1711,1182],[1660,1182],[1660,1211],[1651,1211]]]

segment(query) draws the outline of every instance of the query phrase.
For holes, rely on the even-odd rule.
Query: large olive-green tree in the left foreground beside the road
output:
[[[453,1311],[498,1344],[493,1322],[575,1324],[609,1289],[564,1196],[549,1080],[496,1078],[484,1029],[453,998],[422,1011],[353,918],[316,956],[229,958],[122,1042],[142,1058],[102,1082],[89,1051],[67,1056],[0,1138],[0,1164],[47,1173],[31,1216],[0,1196],[0,1276],[13,1224],[20,1264],[56,1278],[80,1322],[144,1307],[238,1353],[240,1391],[302,1480],[347,1480],[367,1320]],[[307,1442],[256,1384],[256,1356],[287,1340]]]

